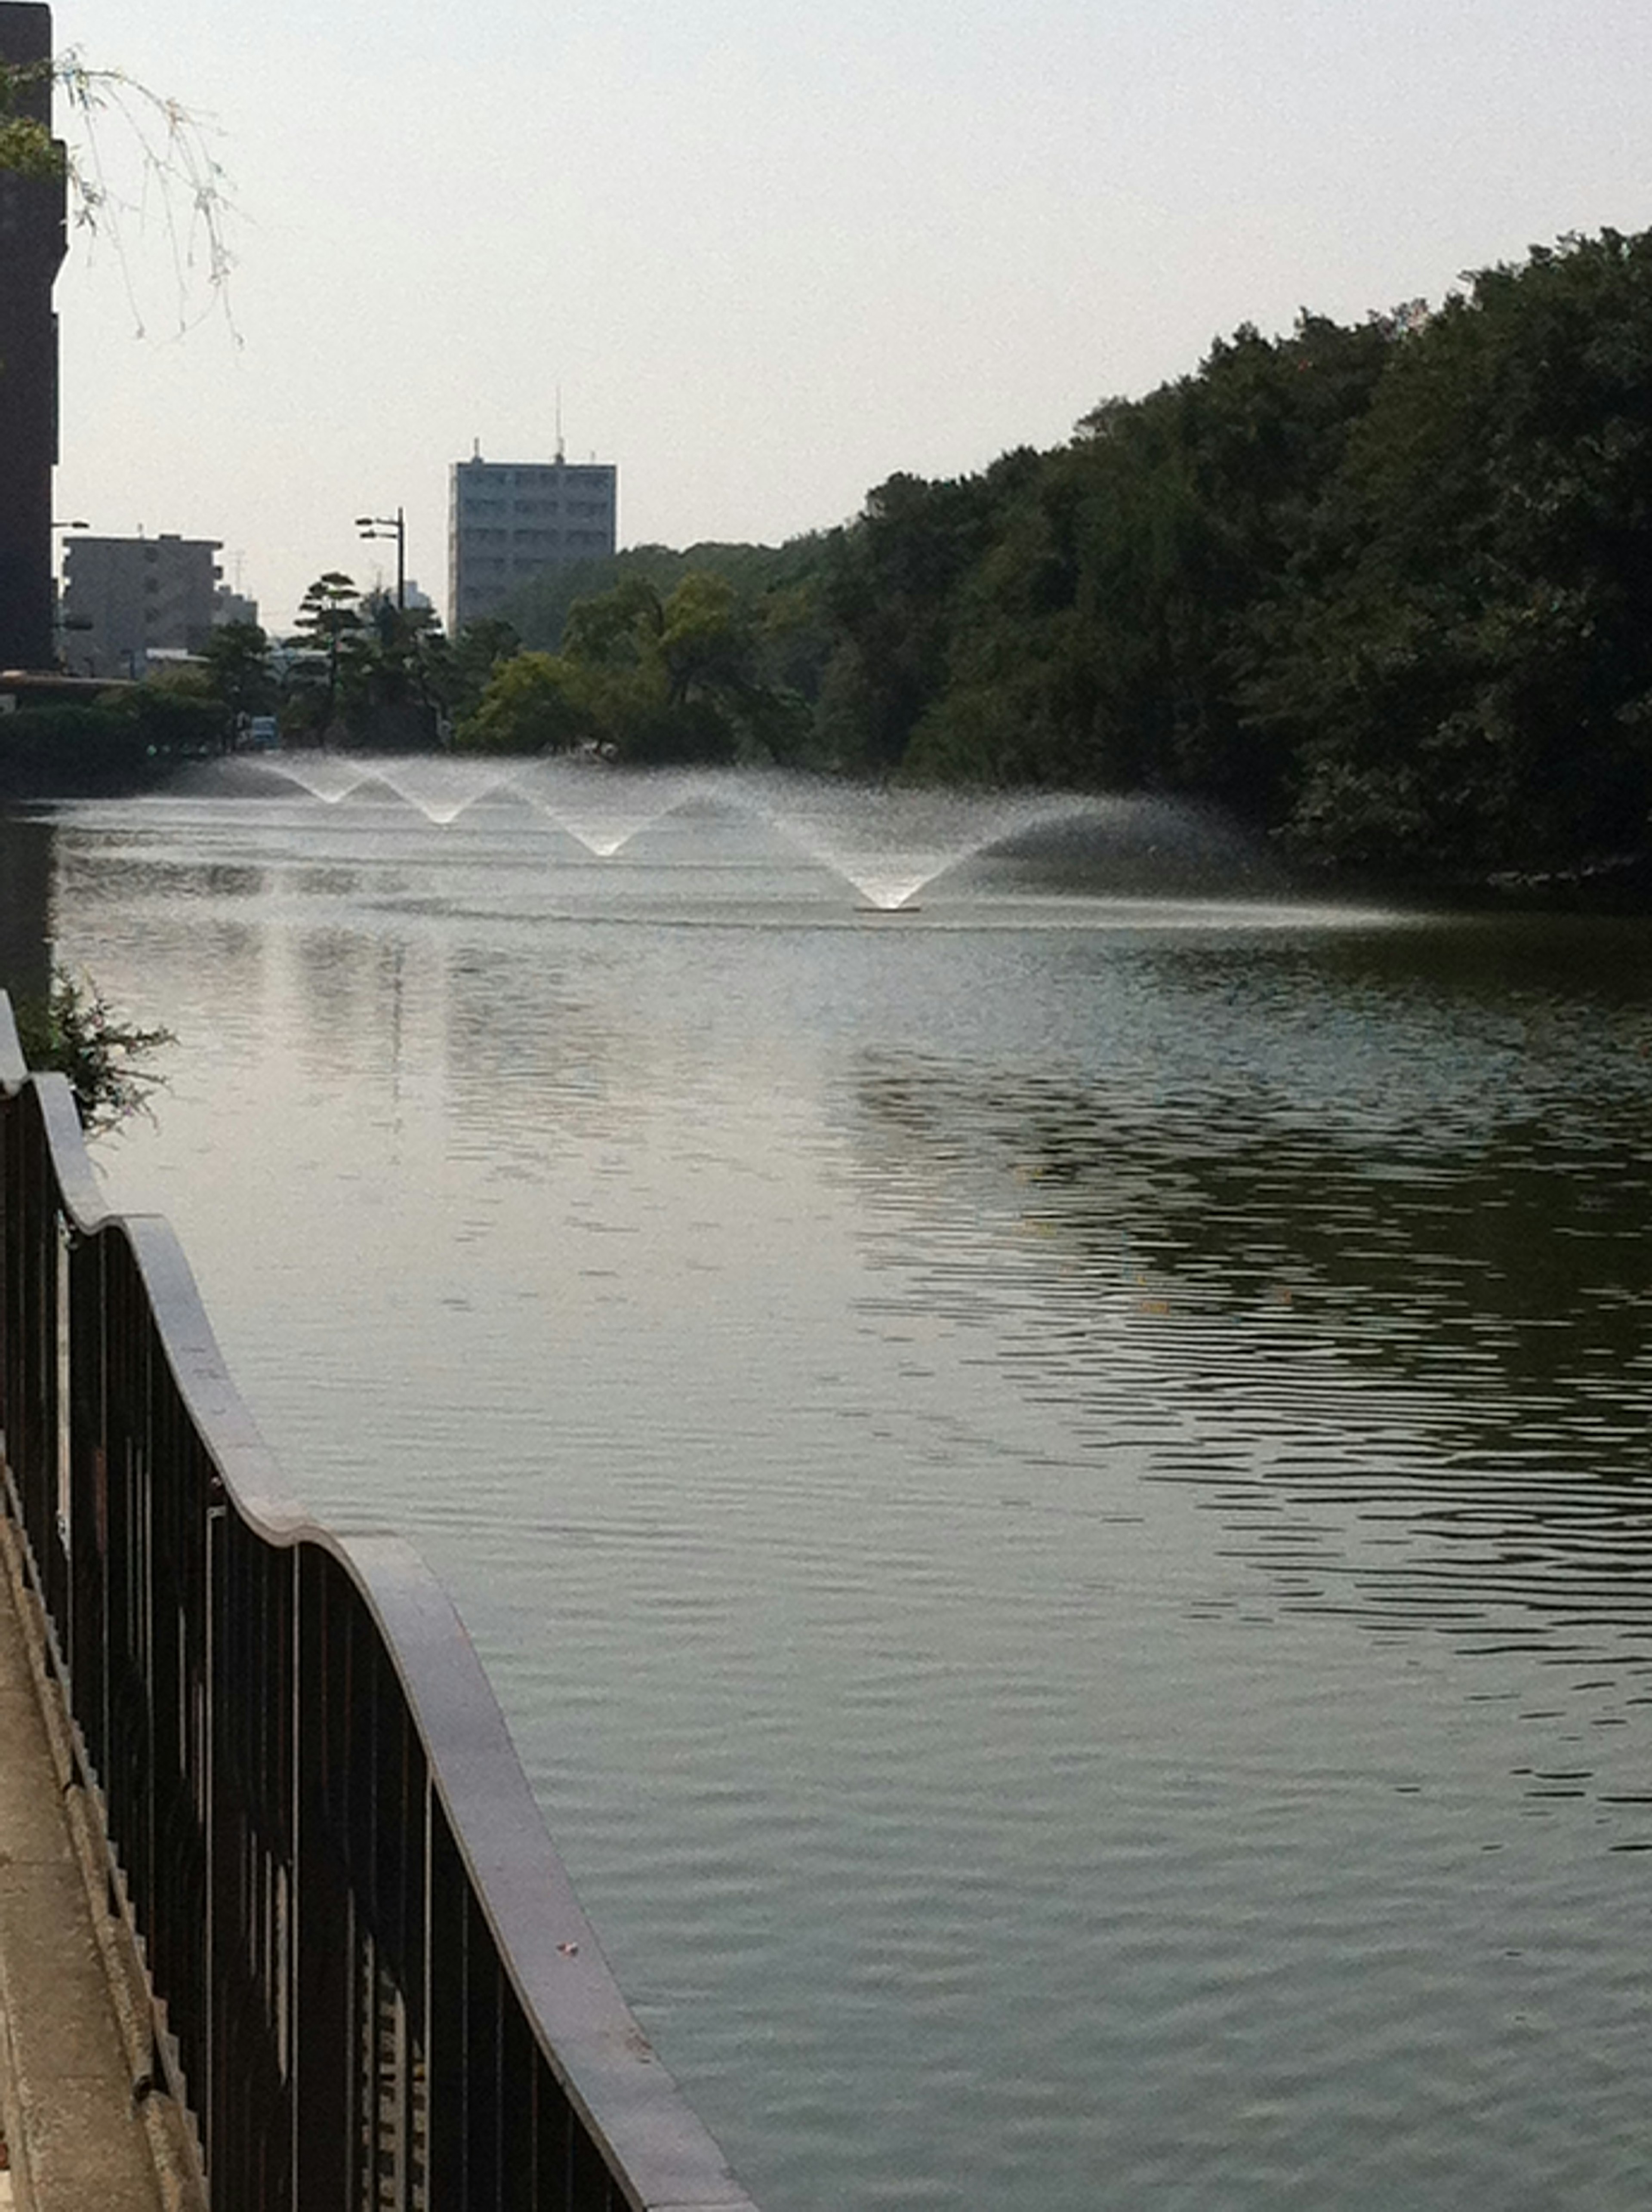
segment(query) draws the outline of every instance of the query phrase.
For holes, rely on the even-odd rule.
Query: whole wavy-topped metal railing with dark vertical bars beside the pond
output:
[[[0,993],[0,1464],[219,2212],[754,2212],[440,1584],[285,1489]]]

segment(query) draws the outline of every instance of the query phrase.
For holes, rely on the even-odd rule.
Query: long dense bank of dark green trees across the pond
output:
[[[1243,327],[1050,453],[513,617],[564,741],[1179,792],[1307,856],[1488,872],[1648,845],[1650,575],[1652,234],[1601,232],[1433,312]],[[721,626],[688,679],[681,593]]]

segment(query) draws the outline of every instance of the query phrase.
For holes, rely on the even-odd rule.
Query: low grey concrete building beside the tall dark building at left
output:
[[[217,538],[69,538],[62,626],[71,675],[142,677],[150,653],[199,653],[223,575],[217,551]]]

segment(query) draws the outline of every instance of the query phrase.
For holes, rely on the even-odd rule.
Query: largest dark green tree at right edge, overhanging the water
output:
[[[1292,827],[1382,867],[1568,867],[1652,810],[1652,232],[1418,321],[1272,608],[1247,710]]]

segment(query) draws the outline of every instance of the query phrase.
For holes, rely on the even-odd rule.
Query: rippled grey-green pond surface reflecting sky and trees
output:
[[[770,2212],[1639,2208],[1648,929],[752,821],[64,810],[294,1484]]]

